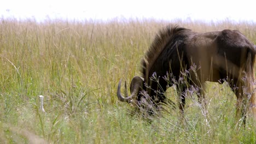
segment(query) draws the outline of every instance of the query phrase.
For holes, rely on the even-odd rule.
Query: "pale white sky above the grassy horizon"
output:
[[[115,17],[160,20],[234,20],[256,22],[255,0],[8,0],[0,5],[0,17],[68,20],[111,20]]]

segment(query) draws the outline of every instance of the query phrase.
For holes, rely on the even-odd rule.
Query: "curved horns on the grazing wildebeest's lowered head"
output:
[[[131,81],[131,85],[130,85],[130,91],[131,91],[131,95],[128,97],[127,95],[127,87],[126,87],[126,82],[125,82],[125,94],[126,94],[126,97],[123,97],[123,95],[121,94],[121,79],[118,83],[118,90],[117,90],[117,96],[118,96],[118,99],[120,101],[124,101],[124,102],[127,102],[127,103],[130,103],[132,99],[134,99],[138,92],[139,92],[139,89],[142,87],[142,83],[143,83],[143,80],[141,79],[141,77],[139,76],[135,76],[133,77],[132,81]]]

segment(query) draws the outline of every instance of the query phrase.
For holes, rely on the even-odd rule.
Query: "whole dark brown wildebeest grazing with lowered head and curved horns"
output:
[[[251,98],[249,107],[255,116],[256,98],[252,83],[255,52],[256,46],[239,31],[225,29],[219,32],[196,33],[178,26],[167,26],[156,34],[153,44],[142,59],[142,77],[133,77],[131,95],[127,95],[125,88],[126,97],[123,97],[120,80],[117,96],[120,101],[138,104],[147,93],[156,104],[164,103],[164,93],[168,85],[166,74],[171,74],[172,79],[178,81],[184,71],[196,65],[200,68],[195,73],[190,73],[189,86],[203,88],[205,81],[227,81],[237,97],[237,113],[245,117],[248,107],[246,101]],[[150,79],[152,75],[157,75],[158,81]],[[182,113],[185,105],[182,92],[185,92],[188,85],[183,87],[178,92],[179,109]],[[198,96],[199,101],[203,100],[203,94]]]

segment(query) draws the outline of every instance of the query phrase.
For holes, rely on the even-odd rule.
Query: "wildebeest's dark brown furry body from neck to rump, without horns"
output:
[[[156,103],[164,102],[164,94],[158,95],[155,90],[162,93],[166,91],[166,73],[178,80],[181,71],[188,70],[192,64],[201,66],[197,73],[200,82],[227,79],[242,89],[248,86],[241,81],[242,76],[254,79],[253,67],[255,61],[254,45],[240,32],[228,29],[220,32],[196,33],[190,29],[177,26],[167,26],[156,36],[153,44],[142,60],[142,77],[144,83],[150,86],[143,88]],[[150,76],[156,73],[159,83],[151,81]],[[191,75],[193,79],[193,75]],[[199,82],[190,82],[190,85],[200,86]],[[162,89],[158,87],[161,86]],[[153,89],[153,90],[152,90]],[[184,87],[185,89],[185,87]],[[238,101],[242,99],[242,90],[236,92]],[[141,100],[143,95],[138,95]],[[185,97],[181,96],[180,109],[183,111]]]

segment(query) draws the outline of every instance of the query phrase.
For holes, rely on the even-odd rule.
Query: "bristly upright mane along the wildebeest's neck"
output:
[[[173,38],[173,35],[179,31],[182,31],[183,29],[186,28],[168,25],[155,35],[153,43],[141,61],[141,72],[144,79],[148,79],[148,71],[151,69],[152,65],[155,63],[161,52],[165,49],[168,41]]]

